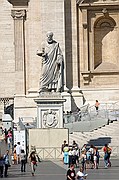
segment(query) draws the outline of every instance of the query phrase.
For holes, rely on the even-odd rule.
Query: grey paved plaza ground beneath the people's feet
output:
[[[105,169],[103,160],[100,161],[99,169],[88,169],[88,180],[119,180],[119,159],[112,159],[112,167]],[[63,165],[61,161],[42,161],[38,164],[35,176],[31,176],[30,166],[27,164],[27,171],[20,172],[20,165],[12,165],[9,168],[9,180],[66,180],[67,165]],[[75,169],[78,171],[78,168]],[[4,178],[3,178],[4,179]]]

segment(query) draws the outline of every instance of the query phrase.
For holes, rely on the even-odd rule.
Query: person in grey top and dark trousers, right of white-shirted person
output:
[[[21,172],[25,172],[26,171],[26,154],[25,154],[24,149],[21,150],[20,158],[21,158]]]

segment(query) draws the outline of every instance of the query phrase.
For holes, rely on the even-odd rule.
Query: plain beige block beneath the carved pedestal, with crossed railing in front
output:
[[[42,159],[62,158],[61,145],[64,140],[69,143],[68,129],[29,129],[29,151],[35,147]]]

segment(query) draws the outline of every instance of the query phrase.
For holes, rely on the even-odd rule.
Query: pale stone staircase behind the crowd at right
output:
[[[94,146],[100,149],[102,153],[102,147],[105,144],[109,144],[112,147],[113,156],[119,156],[119,121],[113,121],[109,125],[98,128],[91,132],[73,132],[69,134],[69,144],[72,144],[72,141],[75,140],[79,147],[81,148],[83,144]]]

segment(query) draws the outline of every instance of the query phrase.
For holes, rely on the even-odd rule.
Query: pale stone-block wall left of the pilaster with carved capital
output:
[[[14,25],[11,5],[0,1],[0,96],[15,93]]]

